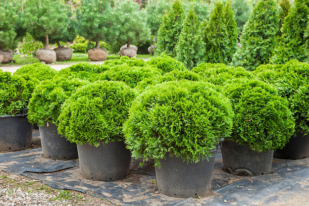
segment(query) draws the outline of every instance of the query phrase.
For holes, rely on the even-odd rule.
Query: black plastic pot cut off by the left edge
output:
[[[0,116],[0,151],[16,151],[31,146],[32,124],[27,115]]]

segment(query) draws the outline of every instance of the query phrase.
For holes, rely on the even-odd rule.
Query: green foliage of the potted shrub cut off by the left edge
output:
[[[0,116],[22,114],[38,80],[0,70]]]

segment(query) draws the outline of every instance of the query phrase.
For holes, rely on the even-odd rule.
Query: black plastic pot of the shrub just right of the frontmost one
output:
[[[274,150],[256,152],[246,145],[233,141],[222,142],[224,170],[240,176],[257,176],[271,172]]]

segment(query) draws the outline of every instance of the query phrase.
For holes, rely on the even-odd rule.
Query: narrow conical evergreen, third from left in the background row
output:
[[[230,59],[229,33],[225,15],[224,5],[217,3],[210,15],[210,20],[202,24],[202,37],[205,46],[204,62],[227,64]]]

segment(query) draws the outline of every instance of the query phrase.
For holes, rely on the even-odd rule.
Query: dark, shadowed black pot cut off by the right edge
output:
[[[277,149],[274,152],[274,158],[292,160],[309,158],[309,135],[297,133],[283,149]]]

